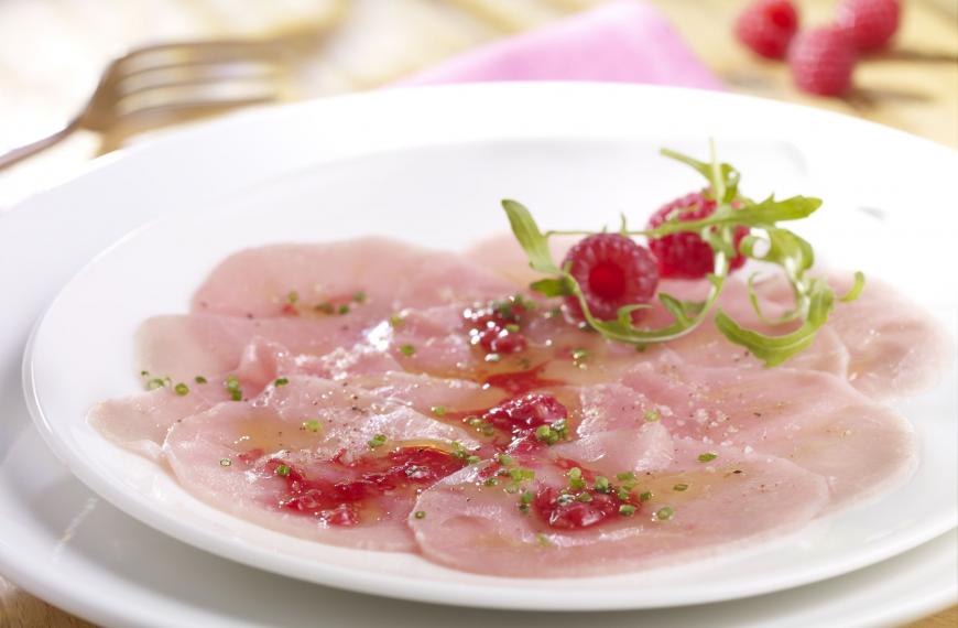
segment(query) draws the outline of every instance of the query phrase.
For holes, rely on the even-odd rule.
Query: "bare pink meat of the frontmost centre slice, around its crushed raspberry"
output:
[[[608,575],[688,560],[797,529],[828,502],[825,480],[781,458],[721,451],[711,470],[698,462],[699,445],[676,441],[668,467],[640,475],[653,494],[631,517],[568,530],[535,511],[522,513],[516,494],[486,486],[483,466],[467,467],[424,491],[410,518],[420,551],[431,561],[497,576]],[[529,490],[565,486],[548,465],[534,467]],[[677,491],[678,484],[687,489]],[[672,510],[671,518],[663,508]]]

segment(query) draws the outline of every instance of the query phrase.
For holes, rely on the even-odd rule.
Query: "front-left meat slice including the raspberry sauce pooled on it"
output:
[[[324,543],[412,551],[416,490],[461,468],[453,427],[308,376],[176,423],[163,453],[188,491],[261,526]]]

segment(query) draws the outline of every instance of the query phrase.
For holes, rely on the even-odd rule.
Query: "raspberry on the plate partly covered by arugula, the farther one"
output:
[[[658,227],[671,218],[674,212],[679,212],[678,218],[681,220],[688,221],[707,218],[711,216],[715,208],[716,202],[706,198],[704,192],[694,192],[658,209],[649,218],[647,228]],[[736,228],[736,250],[748,232],[749,230],[744,227]],[[649,248],[658,260],[658,274],[663,278],[700,279],[715,271],[715,253],[698,234],[671,234],[653,238],[649,240]],[[745,258],[739,253],[731,259],[729,268],[736,270],[741,268],[743,263],[745,263]]]

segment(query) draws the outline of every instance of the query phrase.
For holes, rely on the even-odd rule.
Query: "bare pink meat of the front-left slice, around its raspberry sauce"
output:
[[[336,545],[413,551],[405,523],[412,497],[384,495],[368,520],[330,526],[283,509],[285,481],[263,468],[265,462],[282,459],[307,475],[335,479],[338,467],[330,461],[368,454],[368,442],[380,434],[384,448],[477,443],[464,430],[360,389],[308,376],[289,380],[250,402],[224,402],[176,423],[163,453],[179,483],[216,508],[279,531]],[[309,421],[319,423],[306,429]]]

